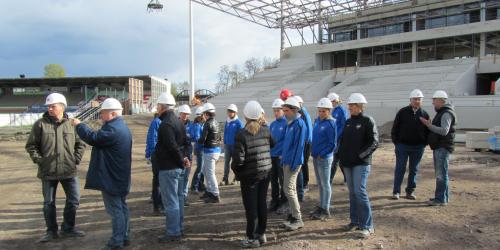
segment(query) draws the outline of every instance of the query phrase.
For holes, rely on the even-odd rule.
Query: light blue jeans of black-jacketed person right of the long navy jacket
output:
[[[160,191],[165,207],[166,236],[181,236],[184,222],[184,169],[160,171]]]

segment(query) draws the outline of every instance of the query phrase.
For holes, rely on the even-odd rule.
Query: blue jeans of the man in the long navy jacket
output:
[[[127,196],[116,196],[102,191],[102,199],[106,212],[111,216],[112,236],[109,246],[123,246],[128,240],[130,232],[129,210],[126,203]]]

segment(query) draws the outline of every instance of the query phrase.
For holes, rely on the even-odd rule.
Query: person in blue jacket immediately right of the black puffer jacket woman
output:
[[[285,104],[280,98],[275,99],[272,103],[275,120],[269,125],[271,136],[275,142],[271,147],[271,202],[269,210],[277,211],[281,206],[286,204],[286,196],[283,189],[283,169],[281,168],[281,155],[283,153],[283,141],[285,140],[286,118],[281,107]]]

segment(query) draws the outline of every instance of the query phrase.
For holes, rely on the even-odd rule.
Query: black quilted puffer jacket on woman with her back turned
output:
[[[271,147],[274,141],[267,126],[256,135],[241,129],[235,137],[231,169],[240,181],[262,180],[271,171]]]

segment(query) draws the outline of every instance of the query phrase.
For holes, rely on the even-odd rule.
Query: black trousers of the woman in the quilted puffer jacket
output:
[[[241,197],[247,219],[247,237],[258,239],[266,232],[267,204],[266,196],[269,188],[269,177],[258,181],[240,182]]]

